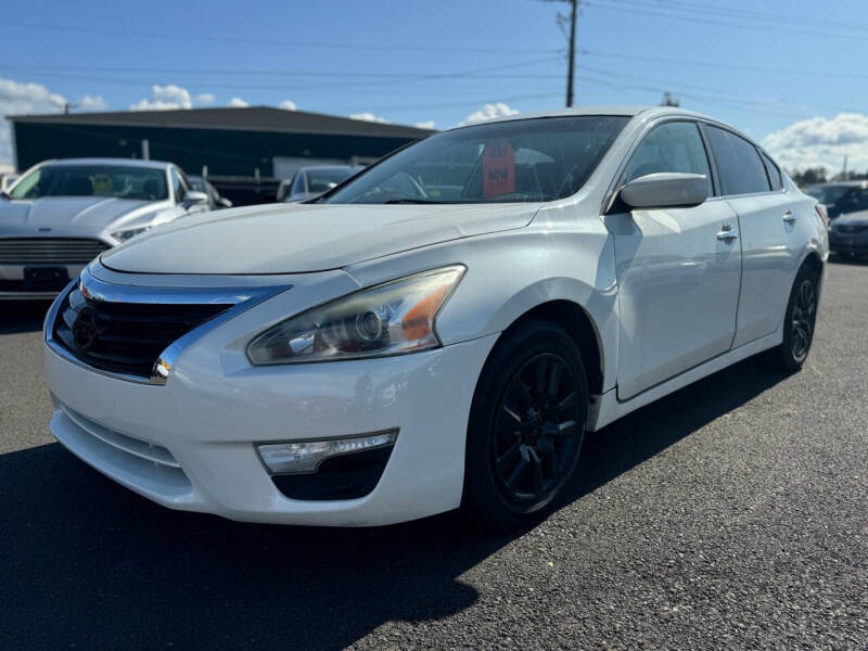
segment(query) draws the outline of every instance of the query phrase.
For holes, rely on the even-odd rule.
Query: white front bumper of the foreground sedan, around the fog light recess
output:
[[[140,495],[232,520],[366,526],[460,505],[470,405],[497,335],[380,359],[238,368],[221,363],[232,346],[215,345],[220,330],[163,386],[106,376],[46,346],[52,434]],[[392,429],[382,477],[357,499],[284,497],[254,448]]]

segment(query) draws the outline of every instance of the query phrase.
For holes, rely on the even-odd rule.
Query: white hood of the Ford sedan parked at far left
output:
[[[116,219],[152,202],[104,196],[47,196],[33,201],[0,201],[0,233],[65,228],[101,231]]]

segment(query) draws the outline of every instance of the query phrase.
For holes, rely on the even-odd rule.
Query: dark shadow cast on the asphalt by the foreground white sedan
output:
[[[784,376],[750,359],[586,437],[561,507]],[[388,621],[473,605],[480,593],[462,574],[521,534],[480,532],[454,513],[328,529],[174,512],[44,445],[0,456],[0,639],[15,649],[343,648]]]

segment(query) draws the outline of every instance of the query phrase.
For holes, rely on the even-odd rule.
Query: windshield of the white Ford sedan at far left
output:
[[[114,196],[155,201],[168,197],[166,173],[119,165],[46,165],[12,189],[12,199]]]

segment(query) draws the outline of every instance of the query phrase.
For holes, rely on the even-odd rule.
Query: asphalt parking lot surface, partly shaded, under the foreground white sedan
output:
[[[536,528],[177,513],[48,434],[44,305],[0,304],[0,648],[868,648],[868,265],[814,349],[588,437]]]

